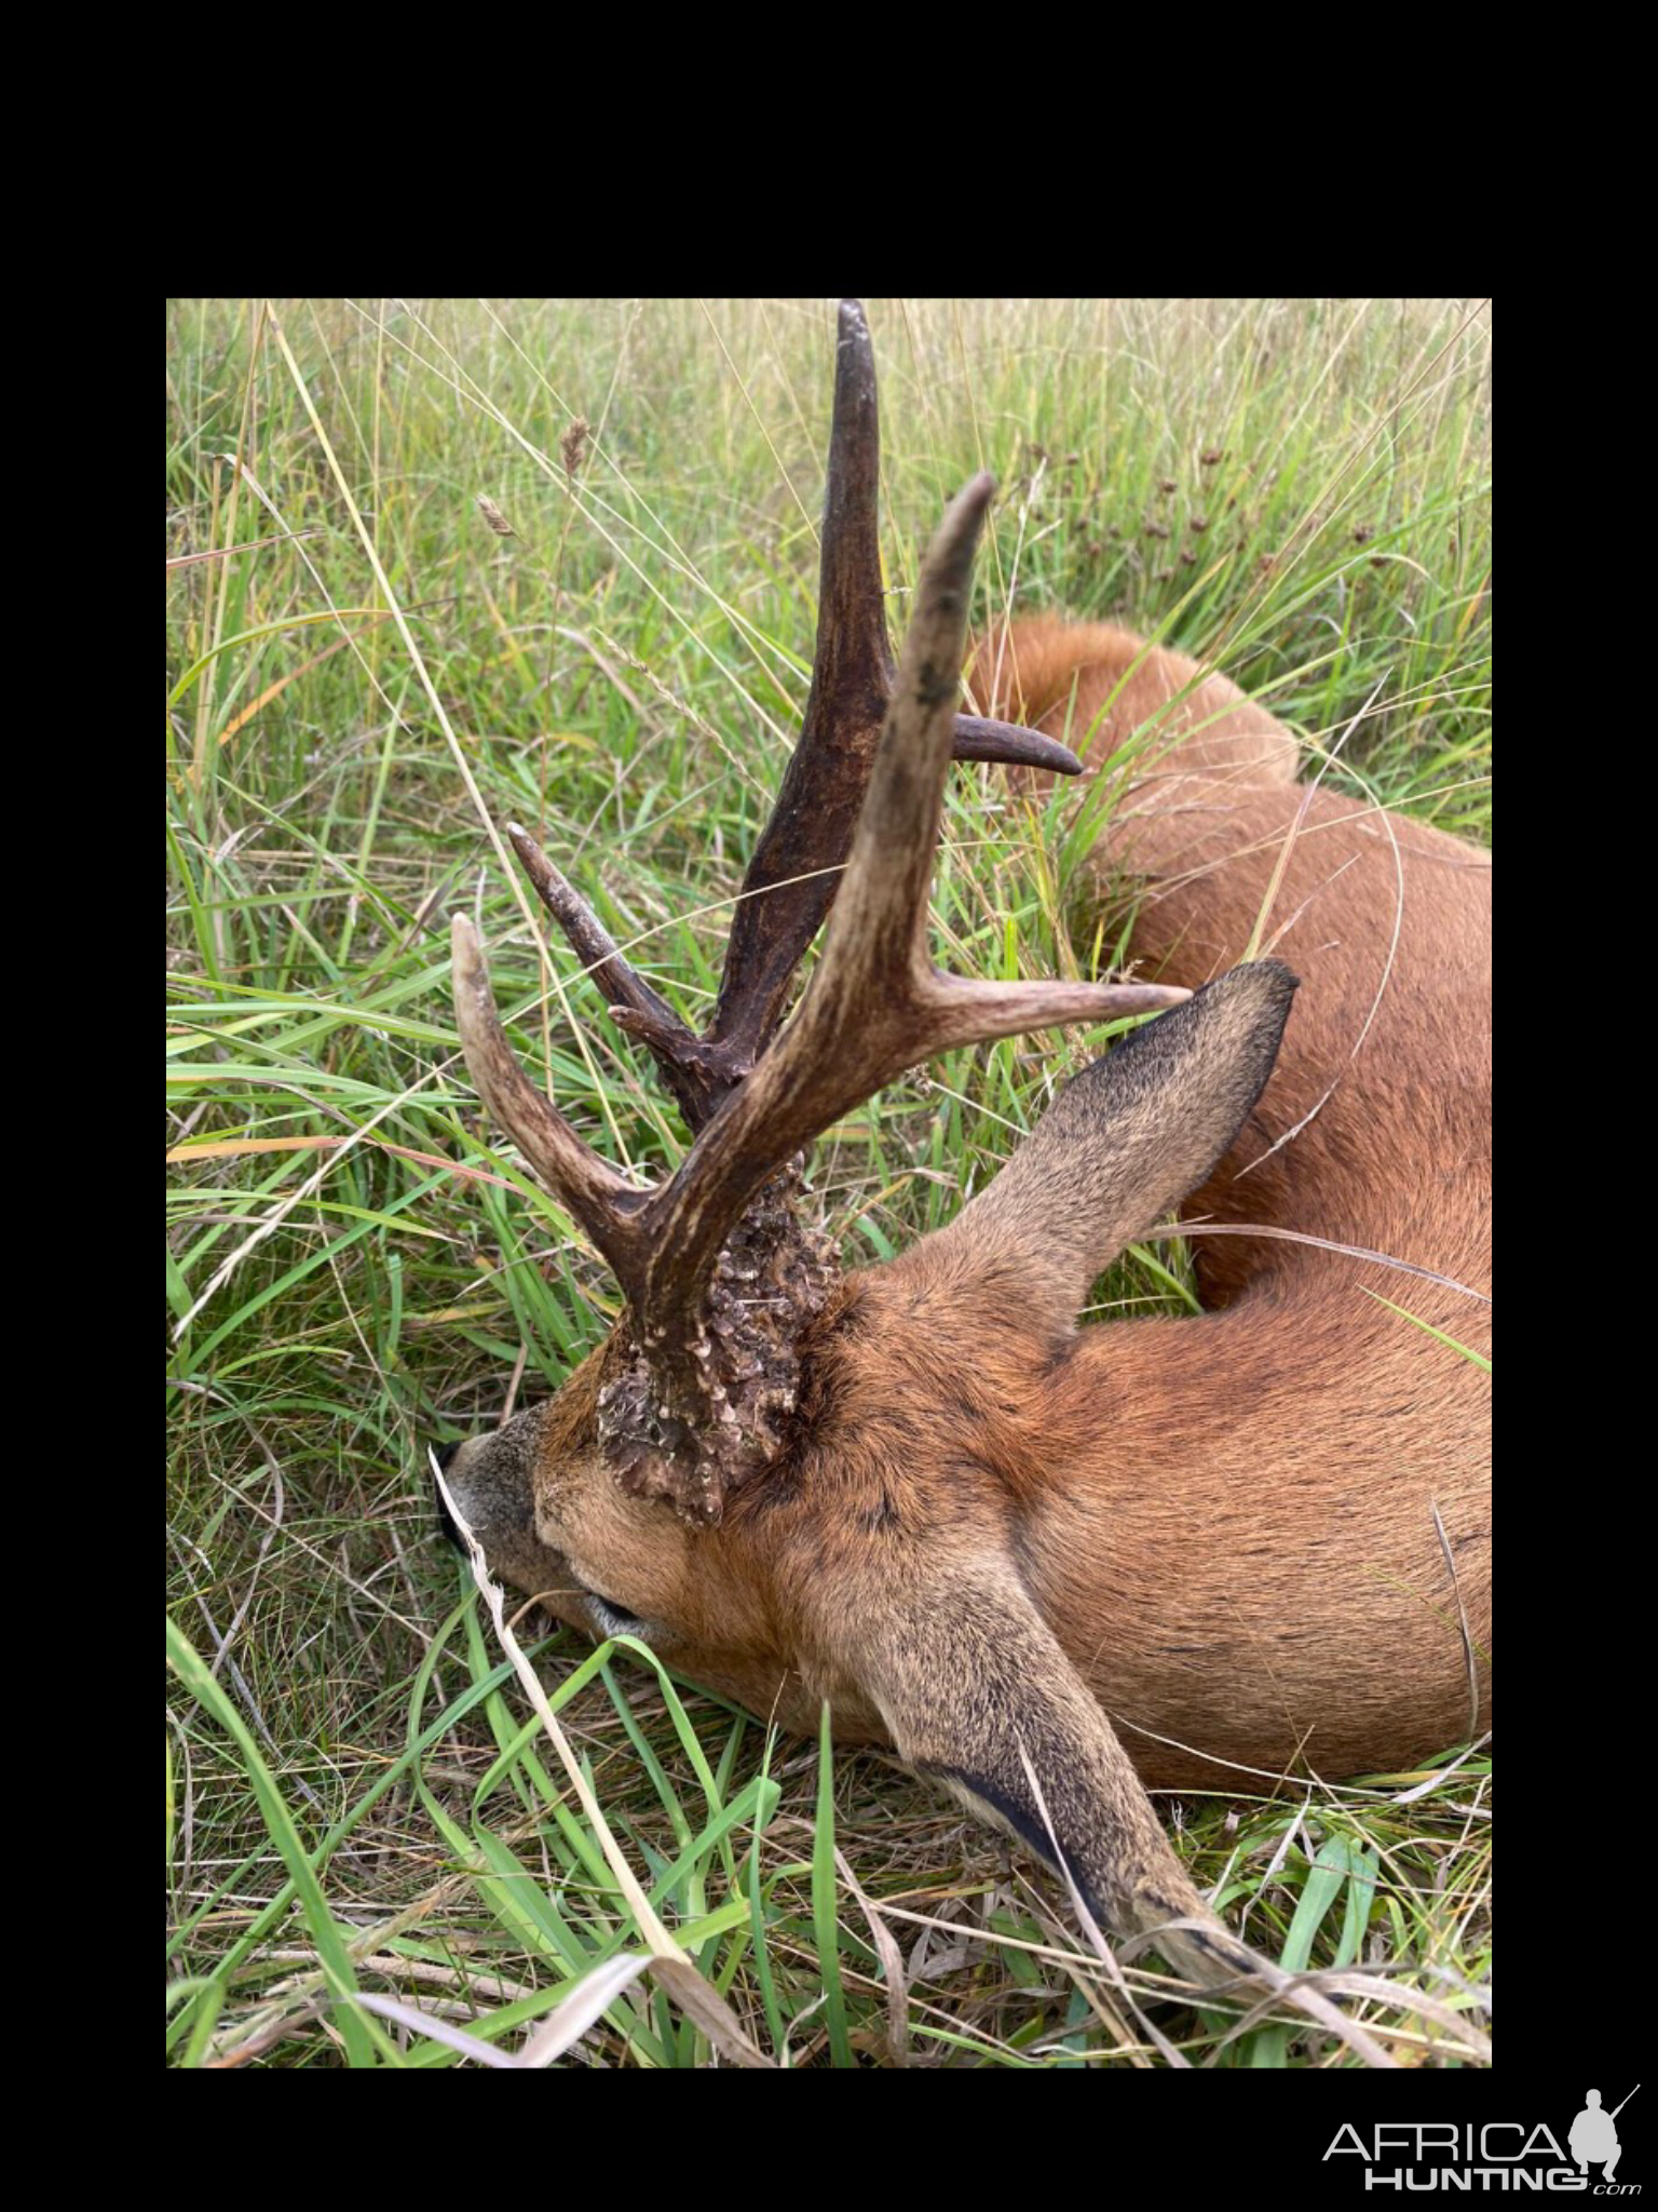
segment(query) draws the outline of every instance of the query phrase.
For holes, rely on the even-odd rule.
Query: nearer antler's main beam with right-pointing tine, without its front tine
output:
[[[988,476],[975,478],[926,555],[829,942],[800,1009],[646,1208],[650,1343],[672,1347],[694,1332],[721,1245],[760,1183],[902,1068],[957,1044],[1154,1013],[1189,998],[1163,984],[964,982],[928,958],[926,902],[973,551],[993,491]]]

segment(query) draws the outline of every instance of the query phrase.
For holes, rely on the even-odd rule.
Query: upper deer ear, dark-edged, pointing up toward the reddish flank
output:
[[[1293,995],[1280,960],[1256,960],[1147,1022],[1066,1084],[940,1239],[964,1261],[1015,1252],[1074,1321],[1123,1245],[1225,1157],[1267,1088]]]

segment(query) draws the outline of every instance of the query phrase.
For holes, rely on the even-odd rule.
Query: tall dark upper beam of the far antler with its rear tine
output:
[[[862,305],[842,299],[811,692],[772,821],[743,878],[721,995],[696,1055],[721,1091],[741,1082],[769,1044],[794,971],[836,900],[858,830],[893,690],[878,495],[875,354]],[[1081,774],[1077,754],[1039,730],[977,714],[948,721],[959,761]]]

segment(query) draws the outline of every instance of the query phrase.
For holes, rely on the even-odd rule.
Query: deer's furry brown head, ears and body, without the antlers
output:
[[[1271,964],[1079,1077],[955,1223],[842,1285],[800,1347],[783,1462],[718,1528],[601,1464],[615,1343],[453,1473],[511,1535],[533,1469],[542,1551],[495,1548],[566,1619],[615,1626],[599,1593],[791,1728],[829,1699],[838,1736],[898,1743],[1057,1840],[1116,1927],[1152,1927],[1203,1907],[1141,1783],[1337,1778],[1488,1725],[1488,1383],[1382,1301],[1475,1349],[1488,1307],[1214,1237],[1203,1316],[1074,1316],[1194,1181],[1192,1217],[1488,1290],[1490,867],[1295,785],[1280,723],[1127,633],[1021,624],[977,677],[986,710],[1092,732],[1123,779],[1092,869],[1105,902],[1136,889],[1147,973],[1198,987],[1260,951],[1295,969],[1265,1093],[1293,987]],[[1163,1947],[1214,1978],[1227,1944],[1209,1918]]]

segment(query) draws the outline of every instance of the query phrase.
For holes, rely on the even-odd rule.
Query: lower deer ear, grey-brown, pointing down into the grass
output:
[[[1041,1858],[1063,1858],[1094,1920],[1200,1982],[1253,1973],[1169,1849],[1110,1721],[1006,1562],[871,1608],[860,1688],[900,1759]]]

